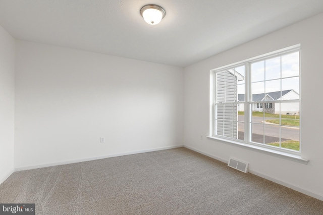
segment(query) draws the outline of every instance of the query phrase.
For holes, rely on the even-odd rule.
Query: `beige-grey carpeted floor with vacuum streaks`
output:
[[[323,214],[323,201],[186,148],[15,172],[0,202],[36,214]]]

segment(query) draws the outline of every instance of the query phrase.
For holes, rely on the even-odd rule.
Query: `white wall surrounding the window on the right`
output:
[[[222,161],[250,162],[250,171],[323,200],[322,91],[323,14],[215,55],[184,69],[184,142]],[[301,142],[307,165],[224,142],[200,139],[209,134],[210,69],[301,44]]]

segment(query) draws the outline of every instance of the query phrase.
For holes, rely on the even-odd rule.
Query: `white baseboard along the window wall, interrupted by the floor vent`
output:
[[[195,149],[195,148],[193,148],[193,147],[189,147],[189,146],[184,146],[184,147],[185,147],[185,148],[187,148],[187,149],[190,149],[190,150],[192,150],[192,151],[198,152],[198,153],[200,153],[200,154],[202,154],[202,155],[205,155],[205,156],[207,156],[207,157],[210,157],[210,158],[213,158],[213,159],[216,159],[216,160],[218,160],[218,161],[222,161],[222,162],[224,162],[224,163],[228,164],[228,161],[226,161],[226,160],[224,160],[224,159],[221,159],[221,158],[219,158],[219,157],[217,157],[217,156],[213,156],[213,155],[208,154],[208,153],[206,153],[206,152],[203,152],[203,151],[201,151],[201,150],[197,150],[197,149]],[[263,173],[260,173],[260,172],[257,172],[257,171],[253,171],[253,170],[252,170],[252,169],[250,169],[250,168],[249,168],[249,172],[250,172],[251,174],[254,174],[254,175],[259,176],[259,177],[261,177],[261,178],[264,178],[264,179],[270,180],[270,181],[275,182],[275,183],[277,183],[277,184],[280,184],[280,185],[283,185],[283,186],[285,186],[285,187],[288,187],[288,188],[290,188],[290,189],[292,189],[292,190],[296,190],[296,191],[298,191],[298,192],[300,192],[300,193],[303,193],[303,194],[305,194],[305,195],[308,195],[308,196],[311,196],[311,197],[313,197],[313,198],[317,198],[317,199],[319,199],[319,200],[323,201],[323,196],[322,196],[322,195],[320,195],[320,194],[318,194],[318,193],[315,193],[314,191],[310,191],[310,190],[307,190],[307,189],[301,188],[301,187],[299,187],[299,186],[296,186],[296,185],[290,184],[290,183],[288,183],[288,182],[286,182],[286,181],[282,181],[281,179],[274,178],[274,177],[268,176],[268,175],[266,175],[266,174],[263,174]]]

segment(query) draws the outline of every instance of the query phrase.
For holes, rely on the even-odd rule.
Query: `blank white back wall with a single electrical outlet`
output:
[[[183,68],[16,46],[16,170],[183,145]]]

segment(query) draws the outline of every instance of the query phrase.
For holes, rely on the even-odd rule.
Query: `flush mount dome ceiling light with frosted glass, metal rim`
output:
[[[145,5],[140,9],[140,14],[146,23],[157,25],[165,17],[165,10],[158,5]]]

